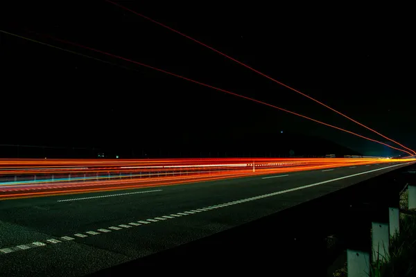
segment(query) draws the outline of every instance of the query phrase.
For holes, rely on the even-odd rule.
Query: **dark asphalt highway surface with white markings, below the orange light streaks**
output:
[[[374,163],[2,200],[0,275],[91,274],[257,220],[408,164]]]

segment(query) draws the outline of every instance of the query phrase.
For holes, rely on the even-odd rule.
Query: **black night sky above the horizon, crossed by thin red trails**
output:
[[[282,111],[31,33],[157,66],[385,142],[146,19],[105,1],[85,2],[8,6],[1,30],[130,69],[0,33],[1,143],[134,145],[143,138],[149,143],[193,132],[220,136],[229,129],[261,129],[389,154],[385,147]],[[414,24],[406,7],[397,7],[398,13],[383,6],[118,2],[416,148]]]

